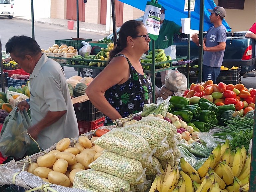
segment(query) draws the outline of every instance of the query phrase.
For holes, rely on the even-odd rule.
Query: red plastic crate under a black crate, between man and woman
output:
[[[78,132],[79,135],[83,133],[87,133],[91,130],[98,129],[103,126],[105,122],[105,117],[99,118],[95,121],[77,121],[78,123]]]

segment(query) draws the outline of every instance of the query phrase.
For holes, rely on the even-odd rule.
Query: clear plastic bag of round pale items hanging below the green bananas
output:
[[[169,70],[165,76],[165,86],[171,91],[182,91],[187,88],[187,78],[177,68]]]

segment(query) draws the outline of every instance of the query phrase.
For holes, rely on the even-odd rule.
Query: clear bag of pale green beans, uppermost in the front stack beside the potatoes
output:
[[[112,129],[93,143],[113,153],[136,159],[142,165],[150,163],[153,154],[143,137],[118,128]]]

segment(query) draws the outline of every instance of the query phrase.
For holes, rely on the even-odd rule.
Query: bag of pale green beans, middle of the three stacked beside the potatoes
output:
[[[144,182],[145,170],[143,170],[138,160],[111,151],[103,151],[103,154],[93,161],[89,167],[119,177],[130,185],[138,185]]]

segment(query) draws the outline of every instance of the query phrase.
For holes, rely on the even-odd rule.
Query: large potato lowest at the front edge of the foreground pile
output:
[[[70,180],[67,175],[57,172],[57,171],[51,171],[48,174],[48,180],[56,185],[62,185],[64,187],[70,186]]]

